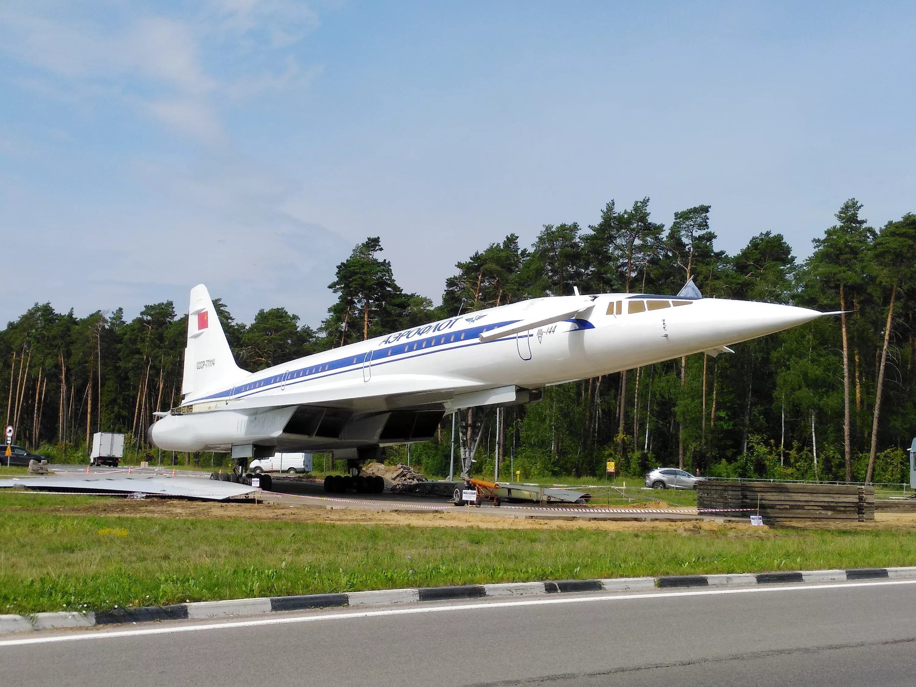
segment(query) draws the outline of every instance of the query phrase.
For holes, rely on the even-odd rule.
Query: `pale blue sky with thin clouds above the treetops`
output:
[[[317,325],[367,235],[439,301],[510,232],[712,205],[798,256],[916,211],[916,5],[0,4],[0,322],[199,282]]]

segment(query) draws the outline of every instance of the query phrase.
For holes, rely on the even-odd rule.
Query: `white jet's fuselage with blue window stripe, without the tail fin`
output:
[[[349,409],[349,422],[394,409],[453,410],[501,402],[488,390],[537,389],[607,375],[779,332],[822,313],[740,300],[603,294],[576,317],[483,343],[478,336],[514,322],[535,321],[554,297],[474,311],[276,365],[233,384],[189,395],[183,413],[156,422],[150,439],[175,451],[228,450],[248,441],[277,441],[300,406]],[[651,310],[649,310],[651,309]],[[359,445],[344,431],[335,442],[297,448]],[[286,442],[289,446],[289,442]]]

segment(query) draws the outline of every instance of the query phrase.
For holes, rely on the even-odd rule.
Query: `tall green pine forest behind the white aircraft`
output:
[[[782,234],[764,232],[734,256],[715,245],[710,208],[653,222],[649,199],[597,222],[545,225],[529,248],[518,236],[459,261],[442,305],[405,293],[377,237],[337,267],[337,294],[316,328],[284,308],[236,322],[219,312],[239,365],[278,365],[461,311],[545,295],[608,291],[677,293],[693,278],[707,297],[846,311],[789,332],[659,365],[549,387],[544,399],[507,409],[500,460],[523,476],[624,474],[681,464],[704,474],[899,483],[916,435],[916,215],[876,229],[851,199],[802,263]],[[16,442],[68,458],[94,431],[125,431],[148,447],[156,410],[180,402],[186,321],[171,301],[84,318],[36,304],[0,333],[0,388]],[[474,472],[492,474],[493,424]],[[441,438],[411,447],[431,474],[448,471],[451,419]],[[393,458],[403,449],[392,449]],[[189,458],[190,459],[190,458]],[[507,470],[506,465],[503,470]]]

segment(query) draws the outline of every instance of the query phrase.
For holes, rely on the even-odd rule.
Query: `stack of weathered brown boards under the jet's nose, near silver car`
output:
[[[797,485],[778,482],[697,483],[702,514],[763,516],[764,522],[790,519],[875,519],[875,488],[858,485]]]

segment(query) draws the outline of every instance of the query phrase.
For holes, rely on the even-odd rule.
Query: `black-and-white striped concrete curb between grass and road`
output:
[[[561,582],[510,582],[465,584],[455,587],[382,589],[344,594],[267,596],[256,599],[199,601],[190,604],[115,608],[95,613],[38,613],[34,616],[0,615],[0,632],[61,627],[95,627],[152,620],[204,619],[220,616],[254,616],[278,611],[303,611],[343,606],[408,604],[419,601],[453,601],[493,596],[535,596],[573,592],[632,592],[684,587],[747,586],[750,584],[831,583],[856,580],[916,578],[916,567],[814,570],[796,573],[736,573],[721,575],[671,575],[667,577],[617,577],[609,580]]]

